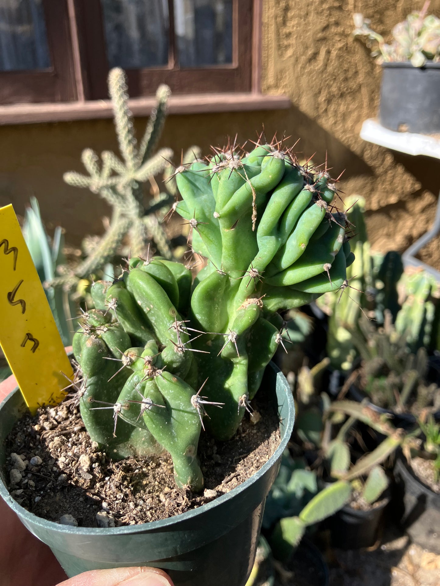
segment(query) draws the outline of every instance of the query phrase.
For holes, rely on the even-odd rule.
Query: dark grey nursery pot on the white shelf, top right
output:
[[[383,63],[379,121],[395,131],[440,132],[440,63]]]

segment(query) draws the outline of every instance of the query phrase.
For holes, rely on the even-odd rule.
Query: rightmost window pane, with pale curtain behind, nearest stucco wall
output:
[[[174,0],[181,67],[232,63],[232,0]]]

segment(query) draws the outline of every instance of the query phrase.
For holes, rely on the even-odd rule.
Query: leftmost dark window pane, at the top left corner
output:
[[[0,0],[0,71],[50,66],[42,0]]]

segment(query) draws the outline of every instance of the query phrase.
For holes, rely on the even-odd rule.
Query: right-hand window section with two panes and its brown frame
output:
[[[90,99],[107,96],[110,67],[130,96],[251,91],[254,0],[83,0]],[[100,23],[100,26],[97,26]]]

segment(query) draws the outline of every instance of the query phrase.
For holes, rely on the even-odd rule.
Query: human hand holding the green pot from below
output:
[[[16,387],[15,377],[0,383],[0,403]],[[0,500],[1,586],[173,586],[171,578],[155,568],[93,570],[70,580],[50,548],[21,523]]]

